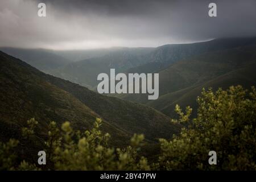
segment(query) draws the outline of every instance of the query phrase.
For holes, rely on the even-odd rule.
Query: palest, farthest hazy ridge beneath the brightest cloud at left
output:
[[[52,50],[52,49],[28,49],[1,47],[0,50],[11,56],[17,57],[43,72],[50,72],[52,69],[63,67],[75,61],[102,57],[112,53],[123,51],[122,47],[84,49],[84,50]],[[138,48],[139,49],[139,48]],[[141,48],[151,50],[152,48]]]

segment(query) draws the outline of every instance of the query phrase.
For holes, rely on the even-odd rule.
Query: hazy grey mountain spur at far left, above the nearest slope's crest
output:
[[[43,72],[48,72],[51,69],[56,69],[65,64],[71,63],[70,60],[56,55],[51,50],[47,49],[2,47],[0,50],[25,61],[27,64],[30,64],[32,67],[35,67]]]

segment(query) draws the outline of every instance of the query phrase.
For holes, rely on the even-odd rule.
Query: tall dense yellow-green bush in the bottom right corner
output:
[[[168,169],[256,169],[256,92],[242,86],[231,86],[224,91],[203,90],[197,98],[197,118],[187,129],[170,142],[160,139],[160,164]],[[189,122],[191,108],[183,113],[179,106],[179,119]],[[208,152],[217,152],[217,165],[209,165]]]

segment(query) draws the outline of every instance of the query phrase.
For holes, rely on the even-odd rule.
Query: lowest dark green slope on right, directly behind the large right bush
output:
[[[253,63],[246,65],[244,68],[231,71],[222,76],[216,77],[212,80],[204,82],[198,86],[193,86],[184,90],[179,90],[174,93],[165,94],[159,98],[157,102],[150,102],[148,105],[154,106],[156,109],[163,113],[174,116],[174,108],[176,104],[181,107],[192,106],[196,108],[196,98],[200,95],[203,88],[217,88],[228,89],[231,85],[242,85],[244,88],[249,89],[251,86],[256,86],[256,60]],[[193,115],[195,115],[195,111]]]

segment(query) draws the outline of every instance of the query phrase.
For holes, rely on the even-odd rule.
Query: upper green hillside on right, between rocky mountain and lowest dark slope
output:
[[[203,84],[230,71],[245,67],[256,60],[255,50],[255,45],[242,46],[224,49],[223,51],[203,53],[189,57],[189,59],[177,61],[168,68],[159,71],[159,95],[162,97],[165,94],[174,94],[174,96],[176,94],[184,94],[193,86]],[[230,83],[228,86],[230,85],[232,84]],[[177,91],[180,92],[176,93]],[[123,100],[149,104],[156,109],[158,109],[159,104],[164,105],[167,102],[166,99],[163,102],[160,101],[160,98],[155,101],[148,101],[146,94],[115,94],[114,96]]]

